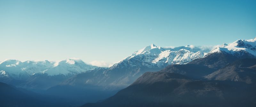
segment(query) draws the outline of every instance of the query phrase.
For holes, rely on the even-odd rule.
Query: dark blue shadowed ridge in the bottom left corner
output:
[[[0,82],[0,107],[68,107],[62,98],[46,96]]]

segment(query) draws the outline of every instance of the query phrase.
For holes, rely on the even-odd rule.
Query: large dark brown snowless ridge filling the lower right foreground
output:
[[[226,53],[144,73],[129,87],[82,107],[255,107],[256,59]]]

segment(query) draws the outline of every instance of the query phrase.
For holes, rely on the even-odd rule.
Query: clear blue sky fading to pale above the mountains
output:
[[[117,62],[156,46],[256,36],[256,0],[0,0],[0,61]]]

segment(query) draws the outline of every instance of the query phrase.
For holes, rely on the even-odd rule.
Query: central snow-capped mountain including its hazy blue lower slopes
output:
[[[209,51],[189,45],[162,48],[151,44],[108,68],[97,68],[77,74],[62,82],[62,85],[72,85],[72,87],[93,85],[100,89],[121,89],[129,86],[145,72],[156,72],[172,64],[186,64],[203,57]]]

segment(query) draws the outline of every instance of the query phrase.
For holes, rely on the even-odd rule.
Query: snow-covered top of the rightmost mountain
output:
[[[241,57],[244,54],[251,54],[252,56],[256,57],[256,37],[250,40],[240,39],[230,44],[224,43],[220,47],[211,50],[207,55],[216,52],[226,52],[237,57]]]

